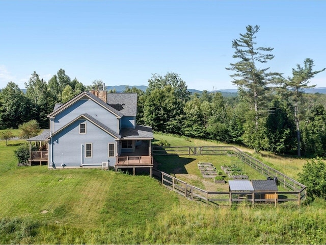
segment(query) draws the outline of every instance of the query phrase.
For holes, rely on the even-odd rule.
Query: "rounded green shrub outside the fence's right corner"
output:
[[[326,163],[321,158],[307,161],[298,177],[307,186],[308,196],[326,200]]]

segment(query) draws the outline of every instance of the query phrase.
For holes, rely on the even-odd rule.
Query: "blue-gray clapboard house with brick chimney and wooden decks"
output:
[[[50,129],[28,139],[40,142],[30,164],[76,167],[150,168],[152,127],[137,125],[137,93],[82,92],[48,115]],[[30,149],[32,149],[30,147]]]

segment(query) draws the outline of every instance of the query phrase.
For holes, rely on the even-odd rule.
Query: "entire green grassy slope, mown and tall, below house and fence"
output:
[[[155,136],[159,137],[165,136]],[[177,145],[214,144],[172,136],[167,140]],[[19,142],[9,141],[6,147],[0,141],[0,243],[326,242],[326,205],[321,200],[300,209],[206,207],[186,201],[148,176],[17,167],[12,152]],[[201,160],[207,159],[214,160]],[[283,170],[282,158],[276,159],[280,163],[271,157],[267,161]],[[302,164],[298,160],[302,161],[291,159],[294,166]],[[182,157],[180,166],[192,172],[196,161]],[[44,210],[48,212],[41,213]]]

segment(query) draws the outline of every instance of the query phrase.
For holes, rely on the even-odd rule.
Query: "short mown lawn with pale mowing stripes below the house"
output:
[[[149,176],[100,169],[17,167],[13,151],[20,143],[5,146],[4,141],[0,142],[0,220],[33,220],[43,235],[16,242],[9,232],[7,238],[0,234],[0,243],[75,243],[78,237],[84,237],[84,243],[98,243],[85,234],[144,230],[148,222],[180,200]],[[71,231],[74,236],[53,235],[52,230]],[[117,243],[129,243],[124,236],[122,240],[118,237]]]

